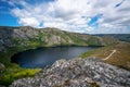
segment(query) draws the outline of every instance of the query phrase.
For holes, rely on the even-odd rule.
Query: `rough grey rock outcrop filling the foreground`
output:
[[[10,87],[129,87],[130,72],[95,58],[60,60]]]

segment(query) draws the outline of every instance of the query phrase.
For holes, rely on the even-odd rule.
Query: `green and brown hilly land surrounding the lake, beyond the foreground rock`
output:
[[[15,79],[34,77],[41,69],[24,69],[12,63],[20,52],[49,47],[102,47],[80,54],[95,57],[105,63],[130,70],[130,44],[113,36],[95,36],[60,30],[58,28],[34,28],[30,26],[0,27],[0,84],[9,86]],[[116,51],[114,51],[116,50]],[[105,59],[105,60],[104,60]]]

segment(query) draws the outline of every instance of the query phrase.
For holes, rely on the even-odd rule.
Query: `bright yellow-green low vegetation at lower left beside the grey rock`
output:
[[[22,69],[17,64],[10,64],[0,73],[0,85],[9,86],[13,80],[31,77],[39,71],[40,69]]]

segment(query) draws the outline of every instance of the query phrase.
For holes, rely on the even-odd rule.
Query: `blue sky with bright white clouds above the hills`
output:
[[[0,26],[130,34],[130,0],[0,0]]]

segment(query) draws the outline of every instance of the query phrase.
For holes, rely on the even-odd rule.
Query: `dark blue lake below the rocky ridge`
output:
[[[75,59],[81,53],[98,47],[51,47],[38,48],[20,52],[11,58],[13,63],[22,67],[46,67],[60,59]]]

